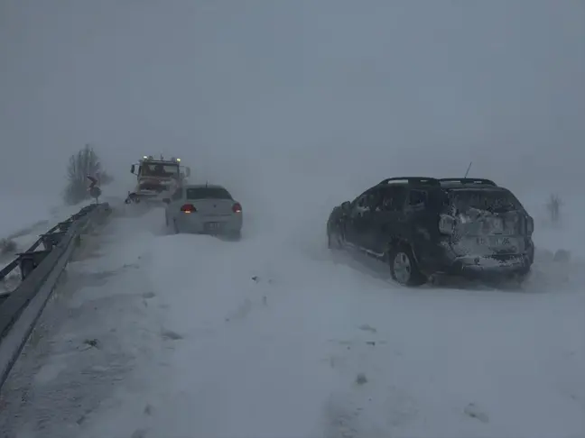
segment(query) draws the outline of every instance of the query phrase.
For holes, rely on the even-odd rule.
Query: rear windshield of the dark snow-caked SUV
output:
[[[451,207],[455,207],[459,213],[465,213],[470,208],[491,213],[506,213],[522,209],[520,202],[507,190],[450,190],[449,199]]]

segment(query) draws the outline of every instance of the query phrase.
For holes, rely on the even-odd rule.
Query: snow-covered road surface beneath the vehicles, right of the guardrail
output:
[[[406,289],[334,260],[314,224],[224,242],[165,235],[160,210],[113,219],[6,383],[0,434],[585,435],[577,269]]]

